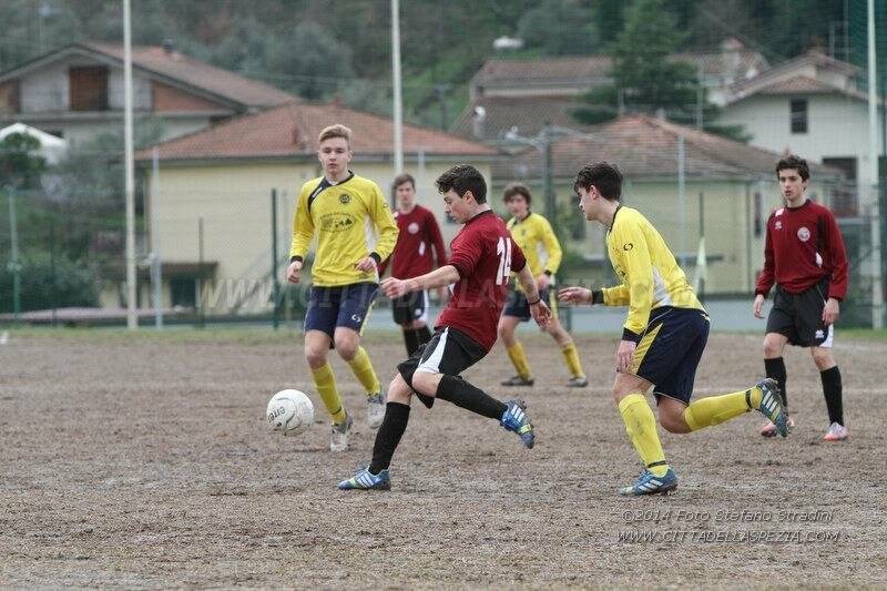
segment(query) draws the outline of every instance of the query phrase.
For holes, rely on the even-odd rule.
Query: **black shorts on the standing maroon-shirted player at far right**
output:
[[[777,285],[767,316],[767,333],[784,335],[798,347],[830,347],[835,327],[823,323],[827,299],[827,278],[799,294],[789,294]]]

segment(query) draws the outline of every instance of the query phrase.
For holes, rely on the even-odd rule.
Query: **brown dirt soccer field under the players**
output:
[[[839,336],[839,335],[838,335]],[[610,398],[612,338],[579,338],[592,385],[562,386],[560,353],[528,339],[537,386],[497,348],[466,376],[529,404],[538,444],[446,403],[414,405],[390,492],[335,486],[369,459],[358,417],[330,455],[293,333],[13,333],[0,347],[0,585],[567,587],[881,585],[887,572],[884,340],[838,338],[852,438],[825,445],[807,351],[792,349],[787,440],[757,414],[663,434],[681,483],[622,499],[640,463]],[[696,396],[762,371],[761,337],[713,335]],[[387,380],[399,336],[370,336]],[[272,434],[268,397],[312,396],[322,424]]]

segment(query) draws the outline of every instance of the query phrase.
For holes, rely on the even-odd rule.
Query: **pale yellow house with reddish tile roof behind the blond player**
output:
[[[289,258],[293,211],[302,185],[322,174],[317,135],[333,123],[354,130],[353,170],[388,193],[395,176],[392,122],[337,103],[289,102],[242,115],[208,130],[156,145],[160,170],[152,177],[152,149],[136,154],[152,251],[163,261],[165,306],[207,313],[265,312],[272,267],[272,191],[276,191],[278,274]],[[490,179],[498,152],[437,130],[404,125],[405,171],[417,181],[418,201],[441,221],[449,241],[458,225],[446,222],[434,182],[470,162]],[[153,211],[152,211],[153,210]],[[140,299],[147,303],[147,285]],[[197,291],[201,289],[200,295]],[[118,305],[112,287],[106,305]]]

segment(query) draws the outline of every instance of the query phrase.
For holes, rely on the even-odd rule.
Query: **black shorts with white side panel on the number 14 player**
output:
[[[431,340],[419,347],[409,359],[398,364],[397,370],[412,388],[412,375],[417,371],[458,376],[486,356],[487,349],[475,339],[455,328],[441,326],[435,330]],[[435,404],[431,396],[419,394],[416,388],[412,391],[428,408]]]

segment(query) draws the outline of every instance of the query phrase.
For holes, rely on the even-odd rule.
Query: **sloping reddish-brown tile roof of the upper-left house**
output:
[[[110,43],[78,43],[78,45],[123,60],[123,45]],[[132,48],[132,63],[133,67],[184,82],[245,106],[272,106],[294,99],[288,92],[264,82],[215,68],[177,51],[167,52],[159,47]]]

